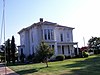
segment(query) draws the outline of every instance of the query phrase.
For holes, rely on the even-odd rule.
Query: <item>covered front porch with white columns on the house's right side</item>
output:
[[[74,45],[77,46],[77,51],[75,51]],[[70,42],[70,43],[60,42],[60,43],[57,43],[57,48],[55,48],[55,50],[56,50],[55,51],[56,55],[64,54],[66,56],[73,57],[73,56],[76,55],[76,53],[77,53],[77,55],[79,54],[77,42]]]

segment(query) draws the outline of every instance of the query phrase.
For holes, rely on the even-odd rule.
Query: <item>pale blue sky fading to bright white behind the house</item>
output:
[[[0,29],[2,6],[0,0]],[[84,46],[84,40],[87,45],[92,36],[100,37],[100,0],[5,0],[6,40],[14,35],[20,45],[18,31],[39,22],[39,18],[74,27],[73,39],[79,47]]]

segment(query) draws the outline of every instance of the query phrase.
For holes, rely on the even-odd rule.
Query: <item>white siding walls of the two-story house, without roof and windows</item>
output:
[[[45,40],[44,39],[44,29],[51,29],[54,31],[54,39],[53,40]],[[39,46],[40,42],[43,40],[48,43],[48,45],[54,45],[55,55],[62,54],[62,44],[58,46],[58,43],[68,43],[73,42],[73,29],[67,27],[59,27],[55,25],[38,25],[33,26],[29,29],[24,30],[20,33],[20,44],[25,45],[25,49],[23,50],[25,55],[29,55],[36,52],[37,46]],[[61,41],[61,34],[63,35],[63,41]],[[51,35],[51,34],[50,34]],[[32,41],[33,37],[33,41]],[[51,37],[50,37],[51,38]],[[68,53],[67,45],[64,45],[64,54],[71,55],[74,54],[73,45],[69,45],[70,54]]]

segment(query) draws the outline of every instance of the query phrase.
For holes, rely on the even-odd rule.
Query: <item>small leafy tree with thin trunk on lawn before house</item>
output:
[[[53,49],[51,49],[47,44],[44,42],[41,42],[36,56],[38,57],[38,60],[41,62],[46,63],[46,67],[48,67],[48,58],[50,58],[53,55]]]

